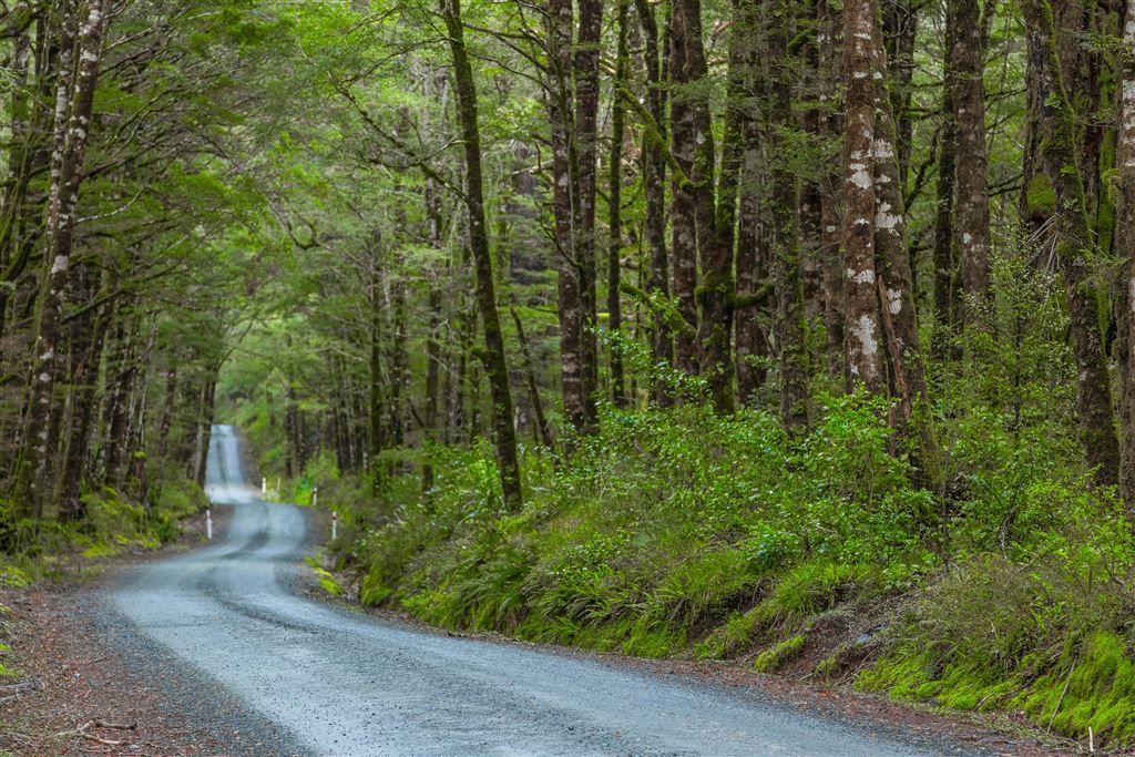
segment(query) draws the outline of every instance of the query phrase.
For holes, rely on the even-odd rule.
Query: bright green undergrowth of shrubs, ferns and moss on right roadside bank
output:
[[[323,563],[340,582],[321,581],[364,605],[1024,712],[1057,734],[1132,745],[1135,537],[1067,426],[1051,277],[1010,263],[994,286],[1020,330],[968,339],[965,371],[931,363],[941,496],[919,483],[917,446],[896,437],[883,398],[819,379],[812,429],[791,437],[767,412],[715,413],[703,382],[665,370],[649,380],[679,406],[604,405],[594,434],[564,440],[569,454],[523,446],[519,511],[486,443],[390,449],[377,479],[323,454],[284,495],[319,487],[340,523]],[[261,411],[244,412],[255,428]],[[253,438],[279,457],[280,439]]]

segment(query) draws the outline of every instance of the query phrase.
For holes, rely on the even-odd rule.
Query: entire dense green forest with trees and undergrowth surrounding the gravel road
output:
[[[0,10],[11,565],[226,421],[367,604],[1135,743],[1135,6]]]

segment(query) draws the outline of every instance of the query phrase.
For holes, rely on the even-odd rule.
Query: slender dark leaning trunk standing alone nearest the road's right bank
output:
[[[497,312],[493,280],[493,253],[485,228],[484,180],[481,178],[481,137],[478,127],[477,86],[465,51],[465,32],[461,22],[460,0],[444,0],[443,15],[449,33],[454,83],[457,87],[457,119],[465,152],[465,209],[469,213],[469,241],[477,269],[477,301],[485,330],[485,368],[493,397],[493,426],[496,436],[497,466],[504,505],[520,510],[523,494],[520,461],[516,454],[516,430],[512,421],[512,390],[504,353],[504,334]]]

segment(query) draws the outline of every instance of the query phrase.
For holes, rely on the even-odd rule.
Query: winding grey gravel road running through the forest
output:
[[[304,510],[266,504],[232,427],[208,477],[222,539],[114,590],[134,632],[311,755],[925,755],[751,695],[589,658],[422,632],[291,589]],[[221,692],[218,692],[218,695]]]

